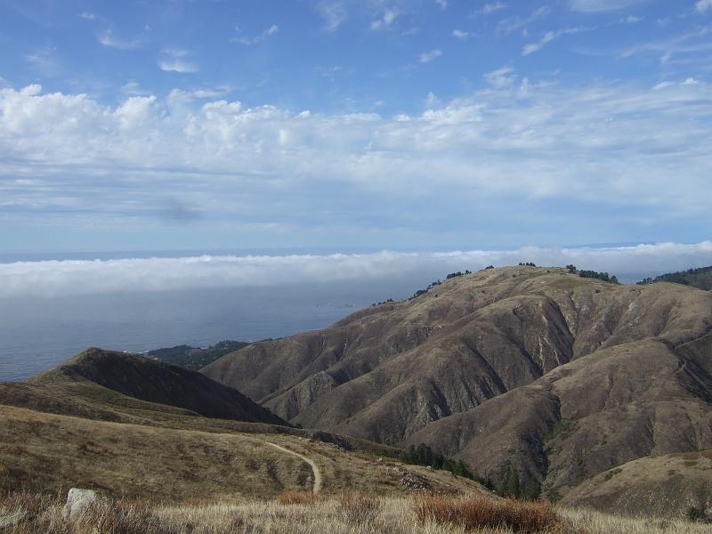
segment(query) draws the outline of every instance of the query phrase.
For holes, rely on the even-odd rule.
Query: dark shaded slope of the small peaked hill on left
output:
[[[88,349],[31,384],[88,381],[140,401],[190,410],[205,417],[286,425],[241,392],[187,368],[124,352]]]

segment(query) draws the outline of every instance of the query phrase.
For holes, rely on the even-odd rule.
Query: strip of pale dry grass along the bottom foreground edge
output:
[[[562,534],[709,534],[710,526],[690,522],[632,519],[594,512],[551,509],[499,501],[503,513],[486,504],[465,506],[464,498],[375,498],[344,493],[338,498],[316,498],[311,502],[282,504],[279,499],[242,505],[201,504],[154,507],[122,500],[103,500],[77,522],[62,518],[61,498],[26,493],[0,499],[0,521],[20,511],[24,519],[0,528],[3,534],[513,534],[556,532]],[[492,501],[494,502],[494,501]],[[428,506],[424,507],[426,503]],[[416,510],[419,512],[416,513]],[[435,518],[442,511],[459,514],[490,511],[503,518],[499,524],[481,524]],[[514,511],[513,511],[514,510]],[[518,512],[516,512],[518,510]],[[522,511],[523,510],[523,511]],[[419,517],[420,514],[425,514]],[[505,526],[508,518],[527,514],[519,527]],[[538,514],[543,514],[539,516]],[[554,514],[556,521],[543,530],[542,521]],[[538,519],[531,519],[532,517]],[[541,518],[544,518],[543,520]],[[2,524],[2,523],[0,523]],[[517,530],[519,529],[519,530]]]

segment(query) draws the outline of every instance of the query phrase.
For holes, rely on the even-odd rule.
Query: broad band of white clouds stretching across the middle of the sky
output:
[[[587,213],[572,220],[592,223],[614,209],[621,228],[647,235],[645,228],[666,221],[700,228],[709,214],[712,97],[701,80],[684,80],[652,91],[528,79],[522,100],[517,74],[503,67],[486,77],[486,89],[454,101],[433,95],[409,120],[247,107],[188,89],[111,106],[38,85],[7,87],[0,89],[0,201],[6,220],[50,224],[61,214],[69,224],[86,214],[91,224],[123,228],[135,218],[141,227],[170,191],[220,220],[318,228],[358,225],[367,218],[363,206],[378,199],[383,206],[371,220],[384,228],[434,232],[427,229],[435,214],[466,226],[490,206],[508,213],[517,201],[553,199],[586,203]],[[101,202],[108,196],[112,202]],[[442,209],[385,207],[417,198]],[[503,218],[511,219],[491,214]],[[557,225],[550,235],[578,242],[569,228]]]

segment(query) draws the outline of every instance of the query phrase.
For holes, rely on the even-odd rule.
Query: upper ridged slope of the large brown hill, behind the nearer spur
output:
[[[253,344],[202,372],[294,423],[398,443],[594,352],[703,336],[710,318],[712,295],[691,288],[510,267]]]

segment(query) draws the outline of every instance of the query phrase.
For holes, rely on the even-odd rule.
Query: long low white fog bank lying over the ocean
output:
[[[712,242],[634,247],[470,250],[437,253],[379,252],[335,255],[248,255],[121,260],[0,263],[0,297],[93,295],[206,287],[266,287],[323,282],[442,277],[487,265],[574,263],[608,271],[628,282],[712,263]]]

